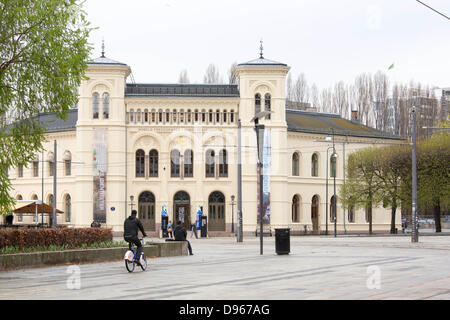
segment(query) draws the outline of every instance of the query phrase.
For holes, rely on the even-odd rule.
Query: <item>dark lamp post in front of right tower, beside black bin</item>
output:
[[[264,149],[264,125],[259,124],[259,119],[265,118],[271,114],[270,111],[258,112],[251,120],[255,122],[256,144],[258,149],[258,168],[259,168],[259,244],[260,254],[263,254],[263,210],[264,210],[264,175],[263,175],[263,149]]]

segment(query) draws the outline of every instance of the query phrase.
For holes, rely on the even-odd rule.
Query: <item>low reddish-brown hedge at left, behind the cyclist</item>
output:
[[[112,240],[112,230],[104,228],[3,229],[0,248],[36,246],[81,246]]]

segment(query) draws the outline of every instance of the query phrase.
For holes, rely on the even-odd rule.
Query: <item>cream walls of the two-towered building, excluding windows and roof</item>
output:
[[[251,122],[255,115],[254,97],[260,93],[262,97],[266,93],[271,95],[270,120],[262,119],[260,123],[270,131],[271,139],[271,166],[270,166],[270,204],[271,204],[271,228],[289,226],[295,230],[312,230],[311,199],[319,196],[319,229],[325,230],[326,225],[326,152],[330,146],[324,140],[324,135],[294,133],[287,131],[285,115],[285,78],[289,67],[238,67],[240,79],[240,97],[125,97],[125,80],[130,73],[128,66],[90,66],[87,72],[89,80],[83,81],[79,93],[78,122],[75,131],[47,134],[48,142],[44,144],[45,154],[53,149],[53,140],[58,143],[58,159],[62,159],[64,152],[72,154],[72,173],[70,176],[58,174],[57,207],[64,210],[64,197],[71,197],[72,217],[66,222],[65,216],[58,218],[58,223],[77,227],[90,226],[93,221],[93,148],[96,130],[106,131],[107,150],[107,175],[106,175],[106,223],[113,231],[120,233],[123,230],[123,221],[129,215],[131,205],[137,208],[139,195],[149,191],[155,196],[155,229],[149,230],[152,235],[159,234],[161,222],[161,208],[166,205],[169,219],[173,219],[173,200],[178,191],[185,191],[190,196],[191,221],[195,221],[197,206],[203,206],[204,214],[208,215],[208,198],[214,191],[219,191],[225,196],[225,221],[226,227],[223,235],[231,231],[231,221],[237,222],[237,206],[232,204],[231,196],[237,200],[237,121],[242,123],[242,187],[243,187],[243,226],[246,234],[253,234],[258,227],[257,222],[257,148],[254,123]],[[92,116],[93,93],[109,94],[110,112],[108,119],[102,119],[102,103],[100,99],[99,119]],[[262,109],[264,109],[262,100]],[[147,121],[141,114],[141,121],[136,121],[136,112],[148,110],[150,112]],[[151,111],[169,110],[170,121],[159,122],[151,118]],[[173,110],[184,111],[184,121],[180,122],[180,114],[176,123],[172,121]],[[131,113],[134,113],[131,120]],[[215,119],[217,110],[223,119],[223,112],[227,112],[227,121],[210,122],[187,120],[187,110],[213,110]],[[230,121],[233,111],[233,121]],[[163,114],[165,116],[165,114]],[[191,115],[193,116],[193,115]],[[199,115],[201,117],[201,114]],[[207,114],[208,118],[208,114]],[[337,160],[337,193],[343,183],[344,155],[343,139],[336,138],[336,149],[339,155]],[[374,139],[349,138],[345,144],[346,154],[372,145]],[[361,143],[364,142],[364,143]],[[145,152],[144,177],[136,177],[136,151]],[[158,177],[148,175],[148,155],[150,150],[158,151]],[[181,154],[186,149],[192,149],[194,153],[194,176],[171,177],[170,176],[170,152],[178,149]],[[205,157],[206,151],[213,149],[217,155],[225,149],[228,155],[227,177],[206,177]],[[292,154],[300,155],[299,176],[292,175]],[[311,176],[311,156],[317,153],[319,156],[319,175]],[[47,168],[45,168],[47,170]],[[62,164],[58,163],[58,172],[62,170]],[[13,170],[10,170],[13,171]],[[11,175],[10,175],[11,176]],[[23,178],[13,177],[13,194],[22,195],[23,199],[31,199],[36,194],[41,198],[41,171],[39,177],[31,177],[29,170],[24,170]],[[52,179],[44,172],[44,201],[52,193]],[[333,193],[333,180],[328,179],[328,198]],[[292,221],[292,199],[294,195],[300,198],[300,219]],[[134,196],[133,203],[130,196]],[[339,198],[338,198],[339,199]],[[339,200],[338,200],[339,202]],[[111,210],[111,208],[115,210]],[[232,217],[234,212],[234,217]],[[344,211],[337,207],[338,229],[343,229],[342,217]],[[354,223],[346,221],[348,231],[363,231],[368,229],[364,218],[364,212],[356,213]],[[346,214],[347,217],[347,214]],[[390,211],[382,208],[374,210],[373,230],[389,230]],[[28,219],[28,220],[27,220]],[[31,220],[30,220],[31,219]],[[397,223],[400,227],[400,214],[397,215]],[[15,219],[17,222],[17,219]],[[32,217],[19,223],[32,223]],[[329,221],[331,224],[331,222]],[[329,230],[332,226],[329,225]],[[214,233],[212,233],[214,234]]]

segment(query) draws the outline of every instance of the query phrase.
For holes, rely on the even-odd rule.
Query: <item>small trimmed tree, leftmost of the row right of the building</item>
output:
[[[369,234],[372,234],[372,207],[382,200],[376,174],[378,148],[365,148],[352,153],[347,162],[347,179],[341,187],[341,200],[346,208],[368,210]]]

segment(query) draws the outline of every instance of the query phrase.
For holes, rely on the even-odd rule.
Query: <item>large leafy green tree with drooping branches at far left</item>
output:
[[[42,149],[44,129],[33,116],[65,119],[77,103],[90,30],[77,0],[0,2],[0,213],[13,203],[7,168]]]

